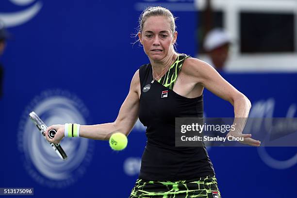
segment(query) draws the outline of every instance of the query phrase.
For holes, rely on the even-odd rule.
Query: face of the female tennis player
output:
[[[154,61],[163,60],[173,50],[177,32],[172,35],[170,19],[165,16],[149,16],[143,25],[142,33],[138,33],[148,58]]]

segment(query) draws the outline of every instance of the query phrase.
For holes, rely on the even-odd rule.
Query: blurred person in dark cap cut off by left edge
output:
[[[0,58],[4,52],[6,40],[9,38],[9,34],[4,28],[4,24],[0,21]],[[3,96],[3,78],[4,78],[4,68],[0,62],[0,99]]]

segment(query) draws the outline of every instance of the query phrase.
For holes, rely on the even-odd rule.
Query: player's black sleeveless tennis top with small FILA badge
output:
[[[178,56],[171,66],[178,65],[174,72],[175,80],[186,58]],[[170,75],[171,68],[165,74],[169,75],[169,79],[174,78]],[[180,181],[214,175],[213,164],[205,147],[175,147],[175,117],[203,117],[203,95],[189,99],[175,93],[172,90],[175,80],[171,81],[173,84],[162,83],[164,78],[161,78],[159,82],[152,83],[150,64],[139,68],[139,77],[139,120],[147,127],[148,138],[139,179]]]

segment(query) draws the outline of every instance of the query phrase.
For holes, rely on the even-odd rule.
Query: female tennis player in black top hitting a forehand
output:
[[[52,125],[49,142],[59,143],[69,131],[74,136],[108,140],[128,135],[137,118],[147,126],[139,179],[130,198],[220,198],[213,164],[205,147],[175,147],[175,117],[203,116],[204,87],[234,106],[235,117],[247,117],[250,101],[205,62],[177,53],[175,18],[163,7],[149,7],[139,18],[139,41],[149,64],[135,72],[130,91],[116,120],[92,126]],[[53,139],[48,131],[57,130]],[[250,134],[241,143],[259,146]],[[69,135],[67,135],[69,136]],[[71,136],[71,135],[70,135]]]

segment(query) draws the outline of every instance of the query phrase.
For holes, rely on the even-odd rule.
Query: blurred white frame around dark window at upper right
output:
[[[234,72],[297,72],[297,0],[212,0],[212,9],[223,12],[223,25],[232,38],[227,71]],[[206,0],[195,0],[199,11],[206,7]],[[292,14],[294,16],[295,52],[240,53],[240,12]],[[207,62],[206,55],[200,59]]]

